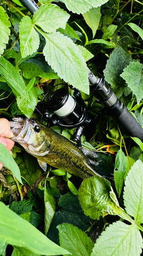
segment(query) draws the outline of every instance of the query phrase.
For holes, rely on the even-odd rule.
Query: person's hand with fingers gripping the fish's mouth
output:
[[[11,149],[14,146],[14,141],[4,137],[12,138],[13,132],[10,130],[10,122],[5,118],[0,118],[0,142],[3,143],[12,154]],[[2,167],[3,163],[0,161],[0,170]]]

